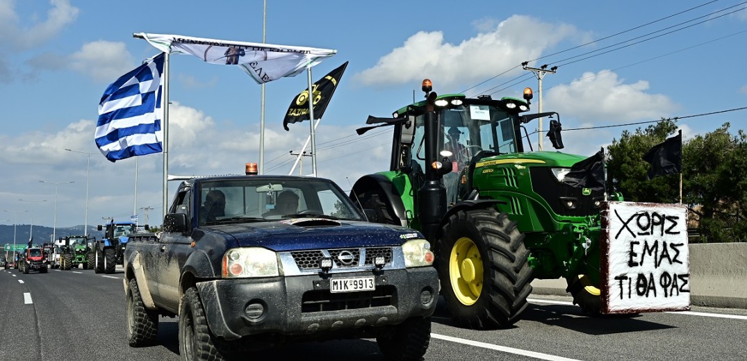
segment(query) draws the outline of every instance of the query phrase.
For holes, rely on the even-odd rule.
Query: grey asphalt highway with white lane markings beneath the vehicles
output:
[[[161,318],[157,345],[125,340],[123,273],[0,271],[0,360],[179,360],[176,318]],[[569,298],[531,296],[515,327],[454,327],[433,317],[426,360],[747,360],[747,310],[589,318]],[[384,360],[370,339],[288,345],[252,359]]]

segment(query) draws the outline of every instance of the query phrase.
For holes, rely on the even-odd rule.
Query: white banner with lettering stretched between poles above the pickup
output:
[[[264,84],[298,75],[315,66],[336,50],[303,46],[246,43],[166,34],[135,34],[169,54],[192,54],[212,64],[238,65],[257,82]]]

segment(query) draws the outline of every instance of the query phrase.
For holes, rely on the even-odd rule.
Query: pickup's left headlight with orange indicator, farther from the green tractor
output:
[[[267,248],[232,248],[223,255],[223,278],[279,276],[278,257]]]

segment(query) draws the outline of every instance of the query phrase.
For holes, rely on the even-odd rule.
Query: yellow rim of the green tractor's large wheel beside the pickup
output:
[[[456,240],[449,257],[451,288],[465,306],[471,306],[483,292],[483,259],[477,245],[467,237]]]

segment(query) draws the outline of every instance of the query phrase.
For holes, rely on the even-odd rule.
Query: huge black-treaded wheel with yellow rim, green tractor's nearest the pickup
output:
[[[532,292],[524,235],[493,208],[454,213],[441,228],[437,269],[454,321],[465,327],[509,327]]]

